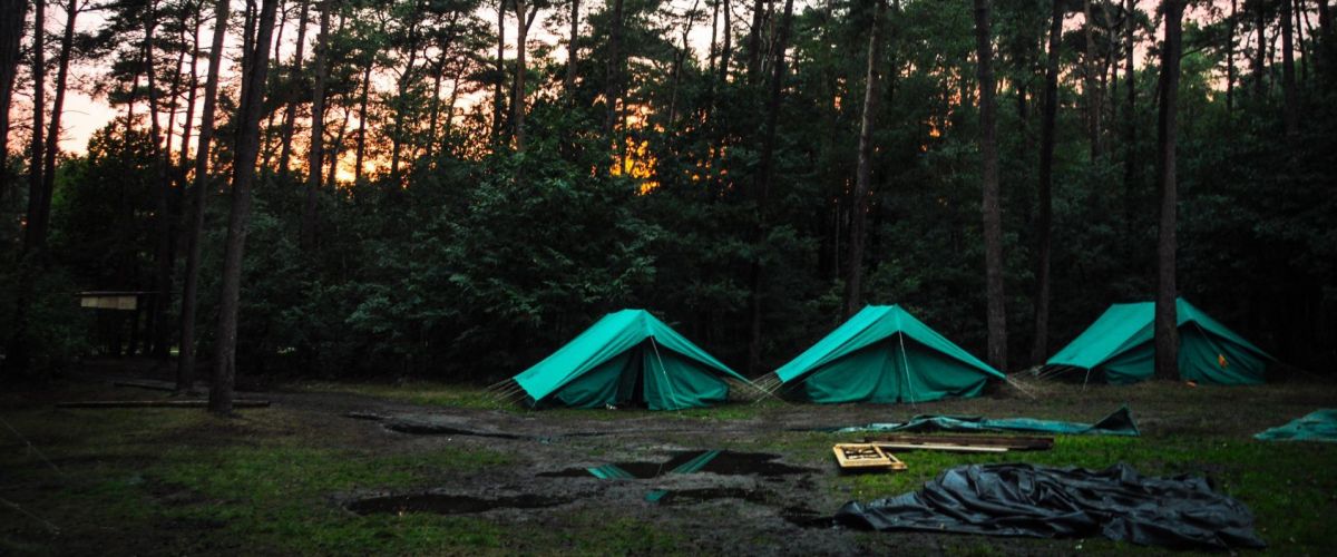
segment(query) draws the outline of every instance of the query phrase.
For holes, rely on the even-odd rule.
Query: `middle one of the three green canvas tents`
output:
[[[774,373],[773,389],[821,403],[975,397],[984,363],[900,306],[868,306]]]

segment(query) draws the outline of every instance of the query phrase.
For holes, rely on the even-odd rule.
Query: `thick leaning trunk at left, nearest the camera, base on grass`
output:
[[[242,94],[237,110],[237,159],[233,163],[233,210],[227,222],[223,251],[222,294],[218,302],[218,347],[214,357],[214,383],[209,390],[209,411],[233,413],[233,382],[237,377],[237,310],[241,302],[242,254],[250,227],[251,182],[259,154],[259,115],[265,100],[265,73],[269,69],[269,41],[274,29],[278,0],[263,0],[255,28],[254,51],[243,64]]]

